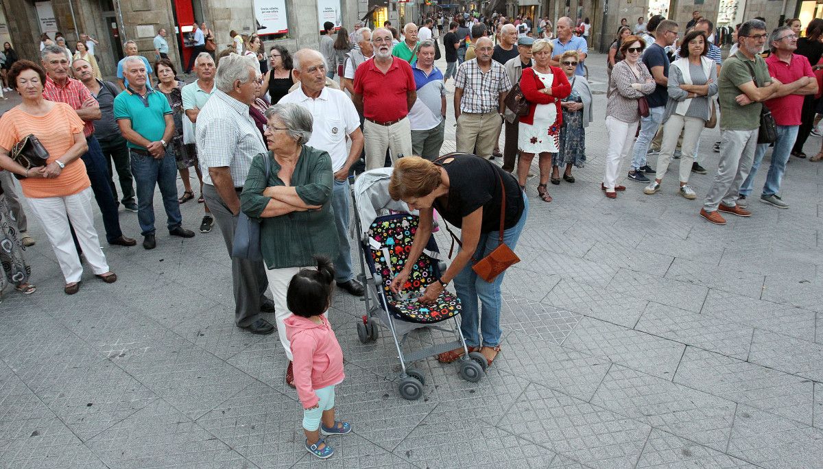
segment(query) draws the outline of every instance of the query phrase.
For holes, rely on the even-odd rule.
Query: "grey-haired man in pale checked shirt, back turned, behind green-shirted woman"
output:
[[[221,58],[214,81],[217,90],[195,116],[203,197],[223,234],[230,257],[240,213],[240,192],[254,156],[266,152],[263,136],[249,116],[249,106],[260,86],[256,62],[237,54]],[[253,334],[274,332],[272,323],[261,315],[275,311],[274,304],[265,296],[268,280],[263,261],[231,258],[231,281],[237,327]]]

